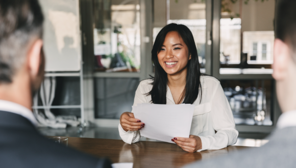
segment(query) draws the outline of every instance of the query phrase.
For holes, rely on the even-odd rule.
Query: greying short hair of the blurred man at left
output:
[[[37,0],[0,0],[0,83],[12,82],[30,42],[42,38],[43,20]]]

